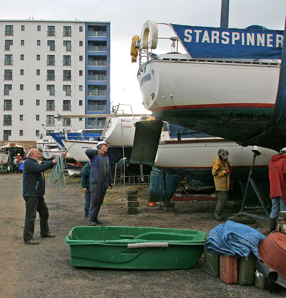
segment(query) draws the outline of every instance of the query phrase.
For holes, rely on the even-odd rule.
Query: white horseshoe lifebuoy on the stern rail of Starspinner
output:
[[[158,41],[158,27],[156,22],[147,20],[145,21],[141,36],[140,48],[141,49],[156,49]]]

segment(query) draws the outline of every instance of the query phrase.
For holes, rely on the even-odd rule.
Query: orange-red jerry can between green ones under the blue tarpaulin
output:
[[[220,279],[226,284],[237,283],[237,257],[220,255]]]

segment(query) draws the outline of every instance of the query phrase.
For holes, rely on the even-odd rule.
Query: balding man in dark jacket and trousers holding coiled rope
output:
[[[61,156],[64,158],[66,154],[67,152],[62,152]],[[43,172],[51,169],[57,161],[56,159],[48,162],[39,161],[39,157],[39,150],[30,149],[23,167],[23,198],[26,205],[24,244],[39,244],[33,238],[37,212],[40,215],[40,237],[55,237],[49,232],[49,210],[43,197],[45,194],[45,176]]]

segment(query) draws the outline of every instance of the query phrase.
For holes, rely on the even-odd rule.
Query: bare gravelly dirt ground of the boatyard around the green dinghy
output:
[[[202,271],[202,258],[188,270],[105,270],[74,267],[70,262],[69,247],[64,239],[74,226],[86,226],[84,194],[80,179],[68,179],[62,190],[63,210],[54,210],[57,187],[46,186],[45,200],[49,207],[50,231],[56,238],[40,238],[39,218],[35,221],[35,239],[40,245],[23,244],[25,204],[22,198],[22,174],[0,175],[0,297],[15,298],[74,298],[74,297],[285,297],[270,294],[256,287],[226,285]],[[127,188],[128,186],[126,186]],[[176,211],[166,212],[147,207],[149,185],[137,185],[140,207],[138,214],[128,215],[122,197],[122,187],[108,190],[99,213],[104,225],[149,226],[162,228],[196,229],[209,232],[218,222],[212,219],[214,201],[177,202]],[[125,192],[124,192],[125,196]],[[60,203],[56,203],[60,209]],[[227,215],[237,210],[229,207]],[[267,234],[268,224],[257,221],[254,228]]]

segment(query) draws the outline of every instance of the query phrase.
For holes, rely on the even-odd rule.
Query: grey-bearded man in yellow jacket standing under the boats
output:
[[[212,165],[212,176],[215,180],[215,190],[218,191],[218,202],[213,218],[222,220],[221,213],[226,206],[229,190],[232,189],[231,165],[228,160],[229,153],[226,148],[218,150],[218,157]]]

